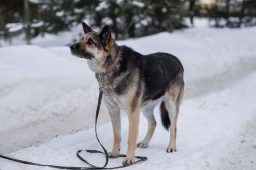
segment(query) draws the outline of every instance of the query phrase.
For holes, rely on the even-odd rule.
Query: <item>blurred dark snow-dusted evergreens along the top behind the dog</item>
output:
[[[0,38],[22,33],[27,44],[45,32],[57,34],[86,21],[111,26],[117,40],[186,28],[185,18],[209,18],[209,26],[256,25],[256,0],[1,0]]]

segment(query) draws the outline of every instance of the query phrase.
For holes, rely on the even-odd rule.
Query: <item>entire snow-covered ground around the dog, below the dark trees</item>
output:
[[[151,143],[136,150],[148,161],[126,169],[256,168],[255,35],[256,27],[211,29],[201,20],[195,28],[172,34],[118,41],[142,54],[172,53],[185,68],[178,152],[165,152],[169,134],[160,125],[156,107],[158,124]],[[68,47],[51,47],[48,41],[47,48],[0,48],[0,153],[42,164],[86,166],[75,152],[100,149],[92,128],[97,83],[83,59],[71,56]],[[38,42],[47,44],[47,39]],[[111,124],[105,123],[109,118],[104,106],[99,121],[99,138],[111,150]],[[127,121],[122,118],[121,153],[127,148]],[[138,142],[144,138],[146,123],[141,116]],[[101,155],[84,156],[95,164],[104,161]],[[111,159],[108,166],[121,161]],[[38,168],[0,159],[1,170]]]

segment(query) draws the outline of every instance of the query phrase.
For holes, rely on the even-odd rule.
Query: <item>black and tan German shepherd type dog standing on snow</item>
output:
[[[184,91],[184,69],[179,59],[168,53],[142,55],[130,47],[118,46],[111,38],[109,26],[94,32],[86,23],[82,25],[84,37],[69,47],[72,55],[87,59],[102,87],[114,132],[109,157],[117,158],[120,152],[120,109],[127,112],[129,119],[128,149],[123,164],[130,165],[134,164],[136,147],[148,147],[157,124],[153,111],[158,102],[163,126],[170,129],[166,152],[175,152],[177,118]],[[148,120],[148,132],[136,144],[140,111]]]

